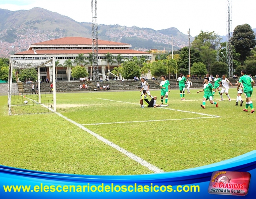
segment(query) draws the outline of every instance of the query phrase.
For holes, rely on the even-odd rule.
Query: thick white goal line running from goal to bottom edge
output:
[[[30,98],[28,98],[29,100],[32,100]],[[34,100],[32,100],[34,101]],[[36,101],[34,101],[36,102]],[[48,108],[47,106],[45,106],[44,104],[41,104],[42,106],[44,106],[45,108]],[[53,112],[52,109],[48,108],[49,110],[51,110]],[[125,149],[119,147],[118,145],[110,142],[109,140],[105,139],[104,137],[98,135],[97,133],[92,132],[91,130],[85,128],[83,125],[78,124],[77,122],[63,116],[62,114],[55,112],[58,116],[64,118],[65,120],[71,122],[72,124],[78,126],[79,128],[83,129],[84,131],[90,133],[91,135],[93,135],[94,137],[96,137],[98,140],[101,140],[103,143],[108,144],[110,147],[113,147],[114,149],[116,149],[117,151],[120,151],[121,153],[124,153],[124,155],[128,156],[129,158],[131,158],[132,160],[135,160],[136,162],[138,162],[139,164],[143,165],[144,167],[148,168],[150,171],[153,171],[154,173],[163,173],[165,171],[159,169],[158,167],[148,163],[146,160],[143,160],[142,158],[136,156],[135,154],[126,151]]]

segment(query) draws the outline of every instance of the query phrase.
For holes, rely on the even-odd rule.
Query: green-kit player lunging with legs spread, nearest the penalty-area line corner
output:
[[[213,94],[212,94],[212,90],[216,91],[212,84],[208,82],[209,78],[204,78],[204,89],[197,91],[196,93],[200,93],[204,91],[204,96],[203,96],[203,104],[201,104],[200,106],[205,109],[205,104],[206,104],[206,100],[209,100],[211,104],[215,104],[216,107],[218,107],[218,102],[214,102],[213,101]]]

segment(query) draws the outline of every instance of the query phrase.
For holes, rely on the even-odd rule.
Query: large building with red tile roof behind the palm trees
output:
[[[130,47],[132,47],[131,44],[127,43],[98,40],[99,73],[103,75],[107,75],[108,73],[108,63],[103,61],[103,59],[105,59],[105,55],[108,52],[112,54],[114,58],[116,58],[118,54],[123,56],[124,59],[132,59],[134,56],[140,58],[142,55],[148,56],[149,59],[151,58],[151,54],[149,52],[131,50]],[[11,55],[10,59],[29,60],[29,62],[32,60],[33,62],[38,62],[42,59],[51,59],[52,57],[55,57],[55,60],[59,60],[59,64],[63,65],[64,62],[68,59],[71,59],[71,61],[74,62],[78,54],[84,54],[84,57],[87,58],[91,52],[92,39],[83,37],[65,37],[31,44],[27,51],[18,52],[14,55]],[[73,65],[76,66],[74,63]],[[117,63],[110,65],[110,71],[117,66]],[[92,78],[90,63],[85,65],[85,68],[89,72],[89,78]],[[52,81],[52,77],[49,75],[51,74],[50,70],[51,69],[49,68],[45,69],[45,71],[40,70],[40,78],[43,79],[43,81],[46,78],[49,78],[50,81]],[[67,73],[69,73],[69,75]],[[74,78],[72,78],[72,74],[70,74],[70,69],[67,70],[64,67],[57,67],[57,81],[74,80]]]

